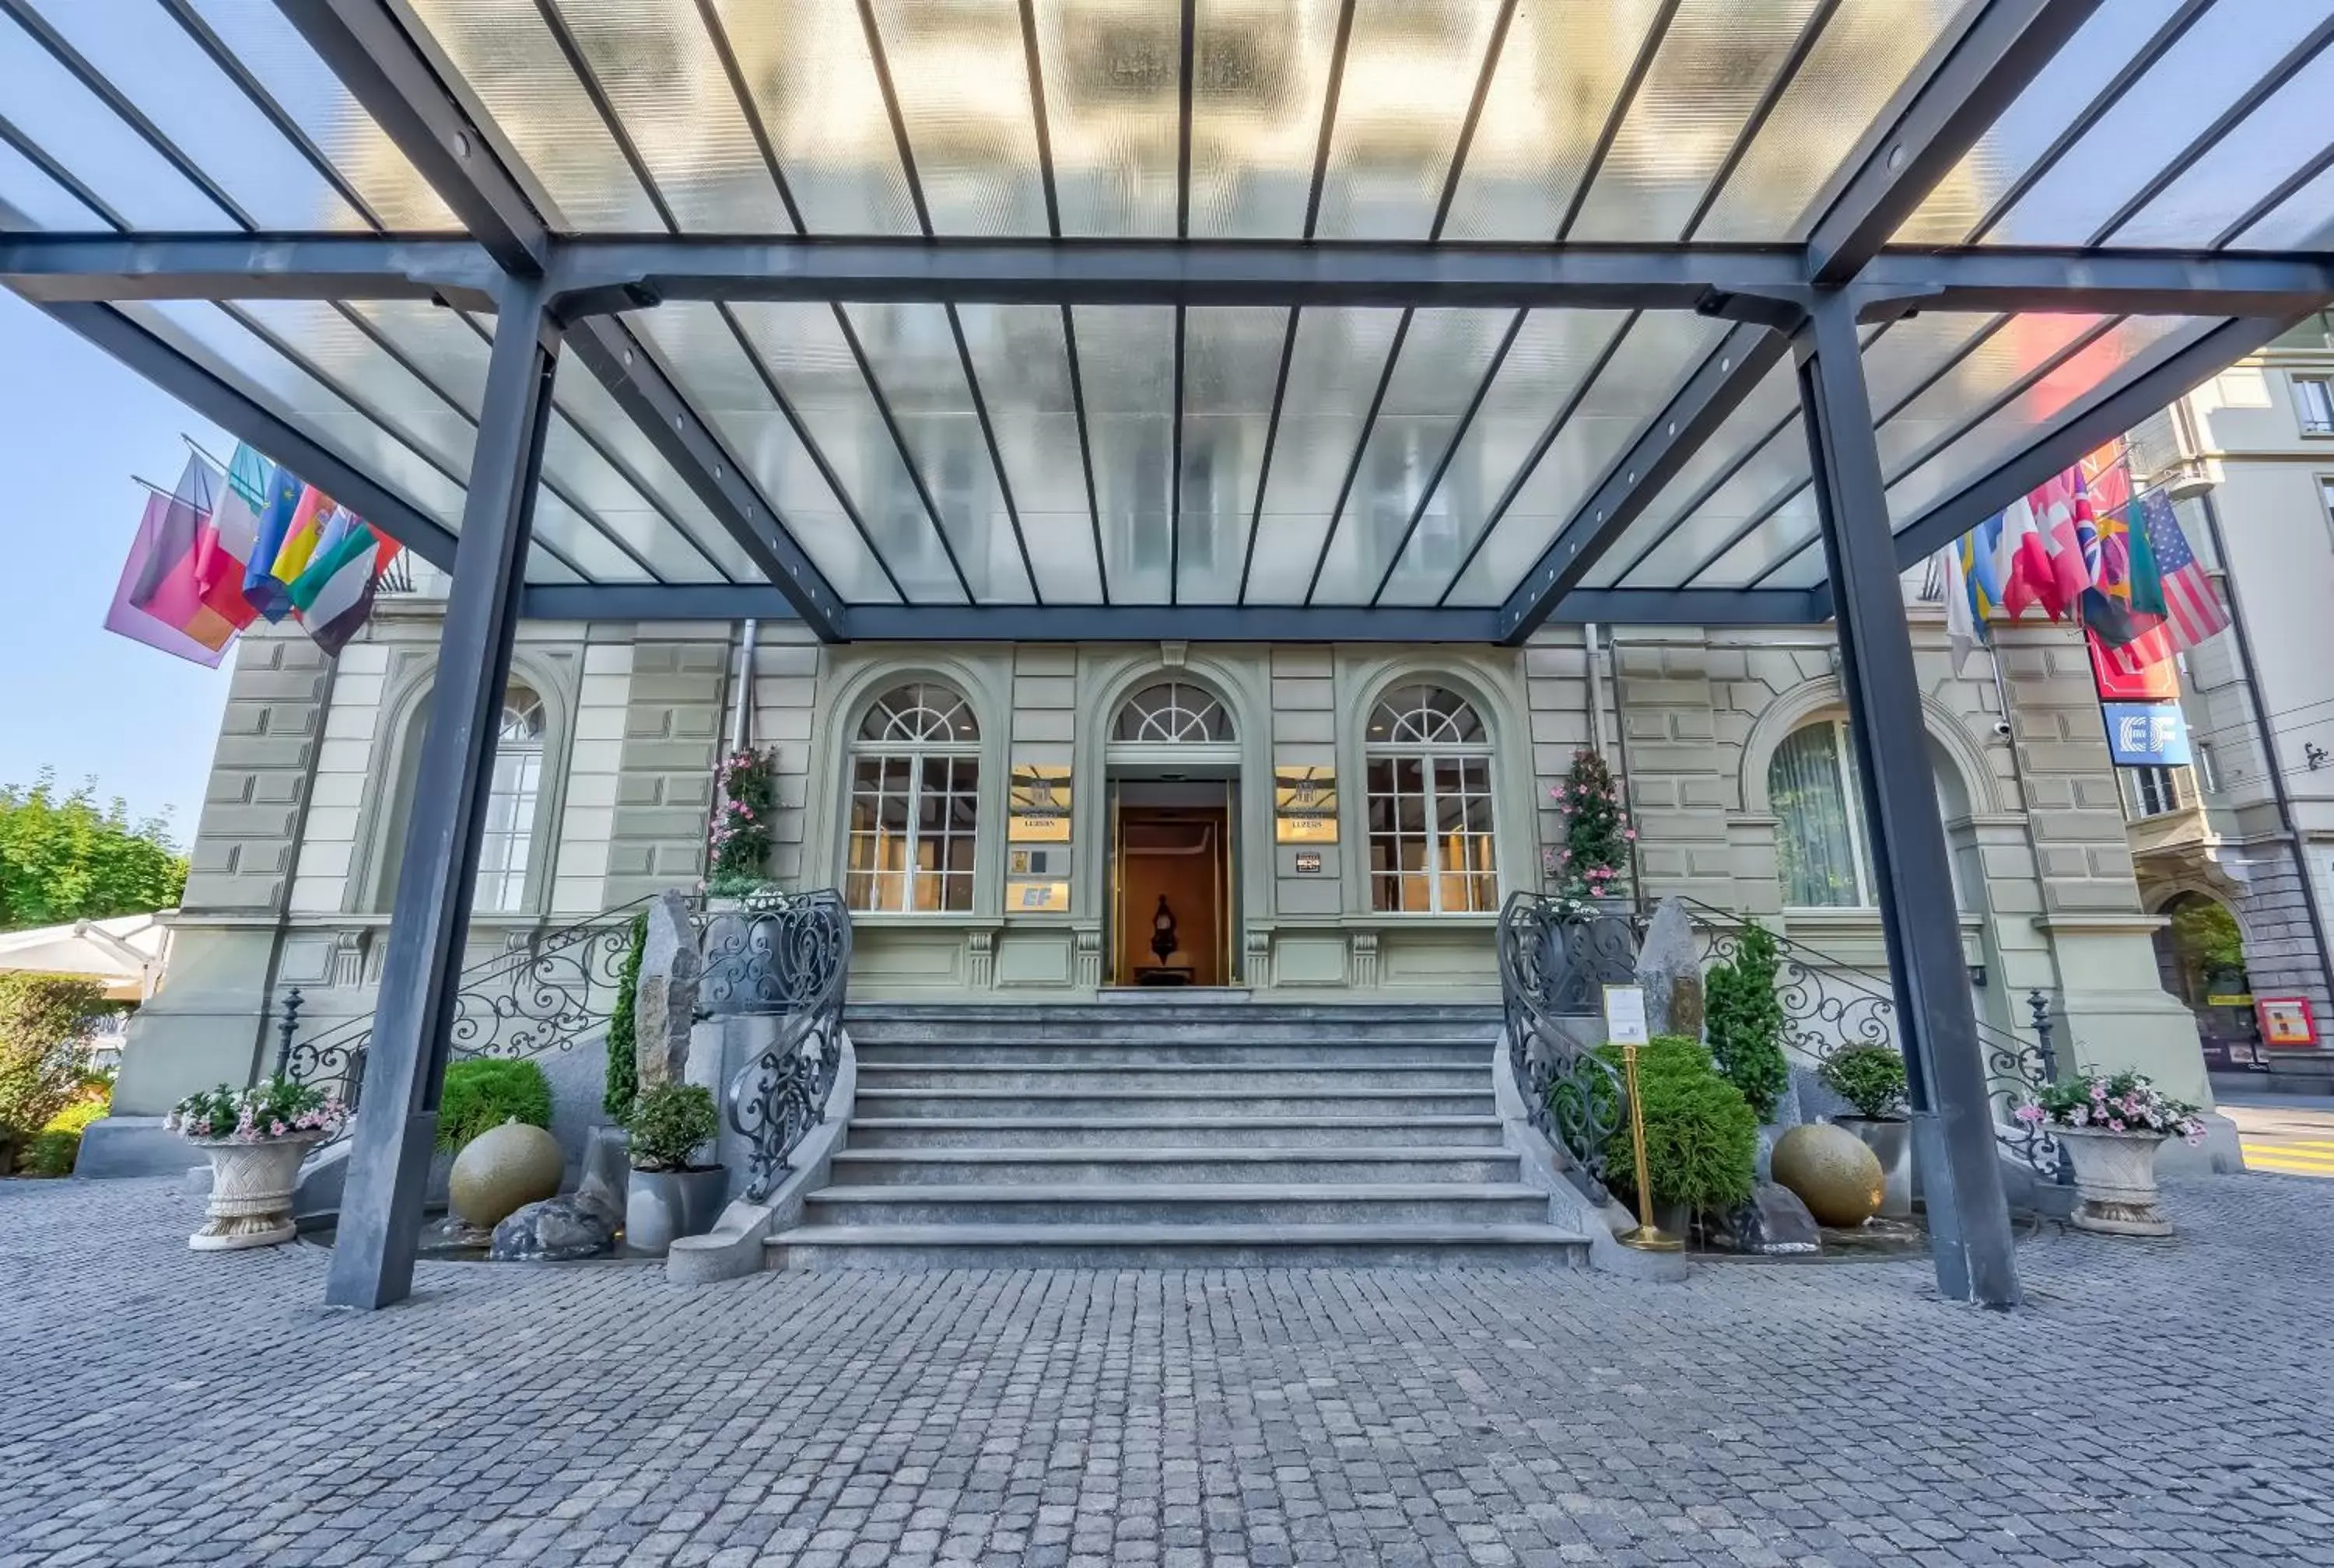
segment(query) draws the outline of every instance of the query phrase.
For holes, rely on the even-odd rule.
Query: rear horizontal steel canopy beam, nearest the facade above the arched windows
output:
[[[1818,625],[1807,588],[1673,593],[1580,588],[1561,621],[1599,625]],[[534,621],[794,621],[777,588],[539,583]],[[1494,609],[1426,604],[852,604],[852,642],[1489,642]]]

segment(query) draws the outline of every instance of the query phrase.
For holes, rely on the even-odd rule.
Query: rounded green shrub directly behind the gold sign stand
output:
[[[1622,1066],[1620,1045],[1603,1045],[1596,1055]],[[1725,1213],[1750,1202],[1758,1181],[1758,1115],[1743,1092],[1718,1076],[1699,1041],[1657,1034],[1641,1045],[1636,1092],[1645,1113],[1645,1176],[1655,1204]],[[1606,1181],[1631,1197],[1636,1192],[1636,1148],[1627,1115],[1606,1141]]]

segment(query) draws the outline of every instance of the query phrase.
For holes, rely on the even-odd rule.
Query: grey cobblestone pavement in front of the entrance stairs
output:
[[[2334,1563],[2334,1183],[1916,1262],[675,1288],[0,1183],[0,1563]],[[2077,1414],[2080,1412],[2080,1414]]]

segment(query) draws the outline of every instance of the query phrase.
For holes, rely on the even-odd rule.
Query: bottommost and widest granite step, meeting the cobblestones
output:
[[[777,1269],[1587,1267],[1587,1237],[1543,1223],[798,1225]]]

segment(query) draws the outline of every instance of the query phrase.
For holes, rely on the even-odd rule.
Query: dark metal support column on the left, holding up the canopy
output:
[[[413,821],[380,966],[380,1010],[348,1157],[341,1239],[324,1279],[324,1300],[334,1307],[387,1307],[413,1288],[555,364],[558,329],[544,315],[541,280],[511,280],[495,317]]]

